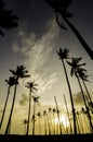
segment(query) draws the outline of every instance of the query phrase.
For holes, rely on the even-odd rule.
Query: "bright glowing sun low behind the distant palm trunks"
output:
[[[68,119],[67,119],[67,117],[65,115],[62,115],[59,117],[59,120],[58,120],[57,117],[54,118],[53,121],[54,121],[55,125],[58,125],[58,122],[61,122],[64,127],[69,127],[69,121],[68,121]]]

